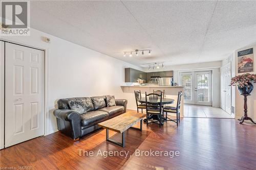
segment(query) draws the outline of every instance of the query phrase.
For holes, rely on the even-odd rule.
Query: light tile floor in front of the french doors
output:
[[[234,118],[234,114],[230,115],[221,108],[185,104],[184,117]]]

